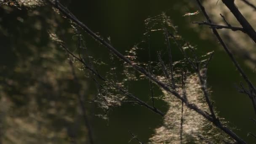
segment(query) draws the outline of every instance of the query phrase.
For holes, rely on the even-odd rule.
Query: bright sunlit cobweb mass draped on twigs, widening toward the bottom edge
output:
[[[154,17],[153,19],[147,19],[147,25],[150,23],[154,23],[157,21],[158,26],[166,26],[169,27],[173,33],[176,33],[176,27],[170,26],[171,20],[168,16],[158,16],[157,18]],[[161,25],[160,23],[163,22],[164,24]],[[165,25],[166,23],[166,25]],[[149,28],[159,29],[157,25],[154,23],[152,27]],[[160,29],[163,30],[163,29]],[[150,31],[156,32],[156,31]],[[187,44],[182,40],[180,35],[174,36],[176,41],[180,43],[179,45],[183,45],[182,49],[189,53],[189,48],[187,48]],[[177,48],[177,47],[172,47]],[[192,47],[192,51],[196,51],[195,47]],[[207,53],[206,55],[200,56],[200,61],[204,61],[208,59],[207,57],[211,53]],[[195,61],[193,55],[190,56],[188,59],[191,61]],[[203,62],[202,62],[203,63]],[[173,77],[176,81],[176,91],[182,96],[184,91],[182,90],[181,85],[181,68],[182,69],[189,69],[190,64],[187,62],[186,59],[182,59],[180,61],[173,62],[174,72]],[[168,68],[168,65],[165,65]],[[158,67],[161,69],[161,67]],[[169,70],[167,70],[170,73]],[[202,70],[202,72],[206,72]],[[170,80],[166,78],[165,75],[157,75],[158,80],[166,83],[167,85],[170,84]],[[200,80],[197,74],[193,72],[187,72],[187,80],[186,83],[186,94],[189,103],[195,104],[198,108],[202,109],[203,111],[208,112],[208,105],[205,102],[205,97],[201,90]],[[171,87],[170,87],[171,88]],[[208,90],[209,91],[209,90]],[[229,136],[224,132],[220,131],[218,128],[213,126],[208,120],[206,120],[203,116],[197,114],[194,110],[188,109],[185,105],[182,109],[182,102],[181,100],[177,99],[170,93],[167,93],[163,90],[163,100],[168,104],[169,108],[164,116],[164,122],[162,126],[155,129],[155,134],[150,138],[152,144],[181,144],[181,143],[224,143],[225,141],[230,141]],[[183,123],[181,126],[181,117],[183,117]],[[223,120],[221,120],[223,122]],[[225,122],[224,122],[225,124]]]

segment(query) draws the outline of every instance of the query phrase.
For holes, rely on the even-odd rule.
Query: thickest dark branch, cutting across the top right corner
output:
[[[245,19],[242,13],[236,7],[234,0],[222,0],[222,2],[229,8],[229,10],[233,13],[237,21],[242,25],[246,34],[251,37],[251,39],[256,43],[256,32],[251,26],[251,24]]]

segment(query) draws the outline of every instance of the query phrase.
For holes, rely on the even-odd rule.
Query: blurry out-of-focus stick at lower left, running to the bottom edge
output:
[[[72,69],[72,74],[73,74],[73,77],[74,77],[74,81],[75,81],[75,83],[78,83],[77,75],[75,73],[75,68],[74,68],[74,65],[73,65],[71,60],[69,60],[69,64],[70,64],[70,67]],[[86,110],[85,110],[85,106],[84,106],[84,103],[83,103],[83,96],[79,92],[77,93],[77,98],[79,100],[80,107],[82,109],[84,123],[85,123],[85,125],[88,129],[89,141],[90,141],[91,144],[94,144],[91,125],[89,123],[89,120],[88,120],[88,117],[87,117],[87,114],[86,114]]]

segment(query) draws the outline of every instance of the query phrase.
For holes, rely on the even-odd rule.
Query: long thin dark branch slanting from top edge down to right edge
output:
[[[208,14],[205,11],[205,8],[203,7],[203,5],[200,3],[199,0],[197,0],[197,3],[199,4],[201,10],[203,11],[203,14],[205,15],[207,21],[209,23],[212,23],[210,17],[208,16]],[[246,29],[245,29],[246,30]],[[217,39],[219,40],[219,42],[221,43],[221,45],[223,46],[224,50],[226,51],[226,53],[229,55],[230,59],[232,60],[232,62],[235,64],[235,67],[238,69],[238,71],[240,72],[240,74],[242,75],[243,79],[245,80],[245,82],[248,84],[249,89],[255,94],[256,93],[256,88],[254,87],[254,85],[251,83],[251,81],[248,79],[247,75],[245,75],[245,72],[243,72],[243,69],[239,66],[238,62],[235,60],[235,57],[233,56],[233,54],[230,52],[229,48],[227,47],[227,45],[224,43],[224,41],[222,40],[221,36],[219,35],[219,33],[217,32],[217,30],[215,28],[212,28],[212,31],[214,33],[214,35],[216,35]],[[249,95],[249,97],[251,98],[251,101],[253,103],[253,108],[254,111],[256,113],[256,96],[253,95]]]

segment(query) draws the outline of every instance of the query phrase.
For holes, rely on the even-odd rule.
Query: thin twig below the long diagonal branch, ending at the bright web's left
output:
[[[107,81],[104,77],[102,77],[101,75],[99,75],[98,72],[96,72],[93,68],[89,67],[88,64],[86,64],[82,59],[78,58],[77,56],[75,56],[71,51],[69,51],[68,48],[65,47],[65,45],[60,44],[61,47],[63,47],[70,55],[72,55],[75,59],[77,59],[78,61],[80,61],[85,68],[89,69],[94,75],[96,75],[97,77],[99,77],[101,80],[103,80],[105,83],[107,83],[108,85],[117,88],[117,90],[121,91],[123,94],[125,94],[126,96],[135,99],[136,101],[139,102],[139,104],[141,104],[142,106],[147,107],[148,109],[152,110],[153,112],[164,116],[164,113],[161,112],[159,109],[155,108],[155,107],[151,107],[149,104],[145,103],[144,101],[141,101],[139,98],[137,98],[136,96],[133,96],[131,93],[128,93],[127,91],[123,90],[123,88],[120,88],[118,85],[115,85],[113,83],[110,83],[109,81]]]

